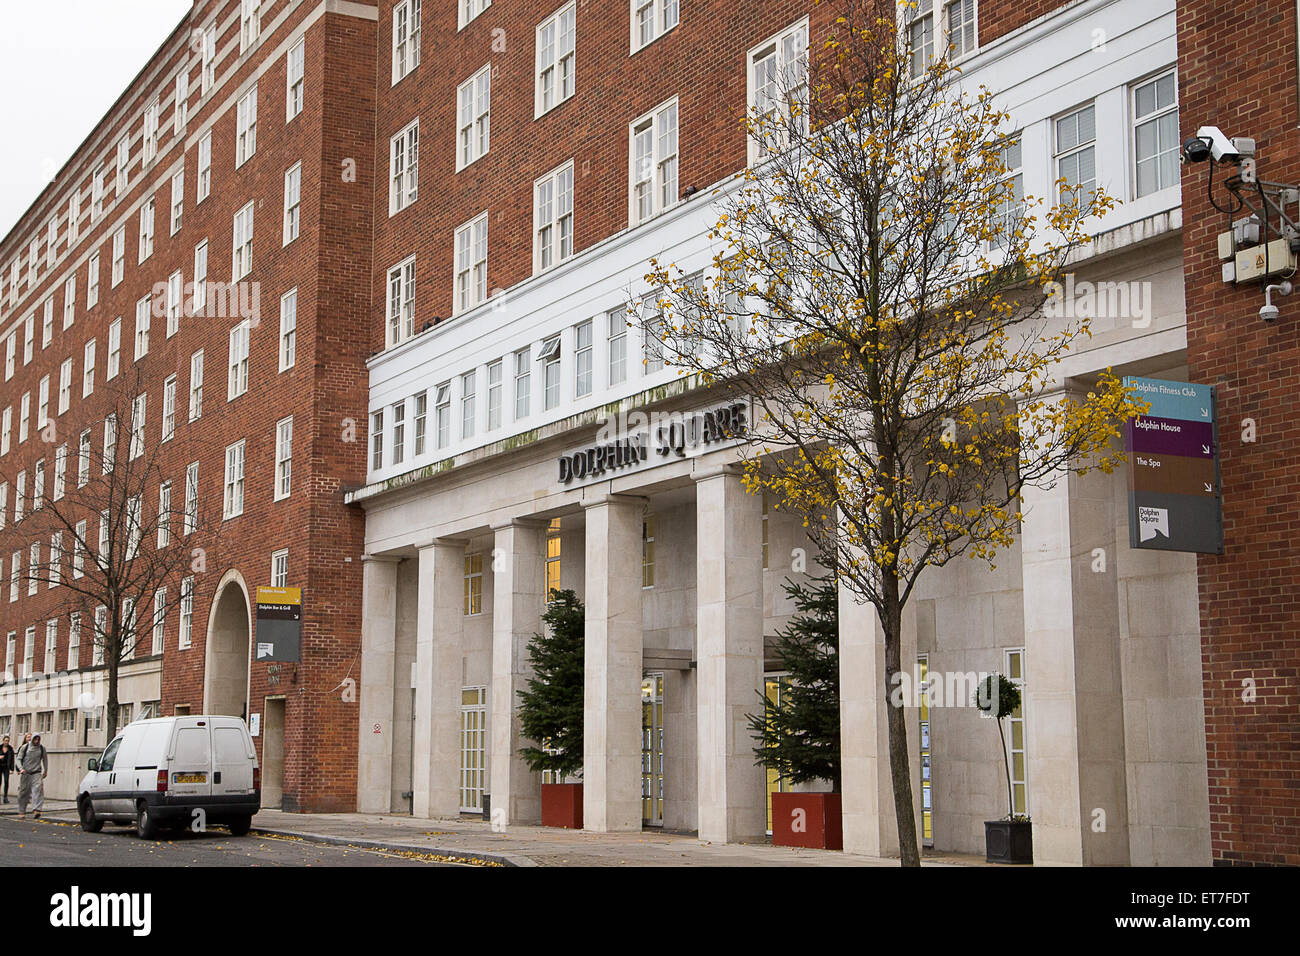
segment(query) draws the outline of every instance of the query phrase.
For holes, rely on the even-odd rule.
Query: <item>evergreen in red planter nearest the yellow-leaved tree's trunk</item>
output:
[[[796,614],[776,635],[789,671],[779,700],[760,695],[763,713],[746,714],[754,762],[792,783],[827,780],[831,792],[772,793],[772,843],[840,849],[840,594],[833,574],[785,580]]]

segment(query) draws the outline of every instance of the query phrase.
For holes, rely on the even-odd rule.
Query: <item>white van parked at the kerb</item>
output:
[[[77,790],[82,830],[105,821],[135,822],[151,840],[164,827],[224,823],[235,836],[261,806],[261,770],[248,727],[238,717],[156,717],[118,734]]]

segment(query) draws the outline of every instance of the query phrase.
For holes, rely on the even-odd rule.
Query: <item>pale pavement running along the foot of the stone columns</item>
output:
[[[10,796],[10,800],[13,797]],[[0,805],[0,817],[17,813]],[[77,822],[72,801],[47,800],[44,818]],[[29,813],[27,819],[31,819]],[[112,826],[112,825],[110,825]],[[660,830],[595,834],[542,826],[493,832],[477,817],[422,819],[407,814],[283,813],[261,810],[254,835],[299,839],[352,849],[432,855],[446,862],[504,866],[897,866],[897,858],[763,843],[710,843],[694,834]],[[927,855],[926,866],[984,866],[983,857]]]

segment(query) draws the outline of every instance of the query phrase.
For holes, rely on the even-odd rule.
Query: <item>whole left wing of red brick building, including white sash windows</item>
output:
[[[259,749],[278,752],[263,753],[268,786],[282,790],[285,808],[342,810],[355,803],[356,711],[337,688],[356,657],[361,533],[342,489],[364,473],[374,10],[283,0],[257,7],[196,0],[0,245],[0,347],[13,356],[0,405],[12,403],[5,420],[12,415],[16,432],[10,447],[6,427],[0,457],[0,480],[13,489],[3,536],[26,561],[23,524],[13,520],[14,476],[34,473],[38,460],[49,471],[55,446],[69,437],[75,459],[87,428],[98,453],[114,386],[138,375],[144,440],[162,442],[177,520],[196,463],[199,507],[221,529],[205,567],[185,585],[192,597],[176,588],[164,597],[161,640],[144,641],[126,666],[126,683],[151,665],[155,674],[124,692],[122,718],[261,715]],[[168,286],[177,276],[182,302],[173,317]],[[205,302],[192,285],[204,277]],[[146,308],[142,352],[134,317],[146,295],[166,303]],[[60,317],[48,334],[46,308]],[[44,376],[58,381],[68,360],[75,388],[66,402],[51,399],[47,442],[39,423],[30,434],[18,428],[27,408],[21,395],[38,395]],[[25,485],[30,507],[32,481]],[[147,496],[144,507],[156,503]],[[94,524],[91,516],[91,536]],[[30,544],[48,562],[49,542]],[[10,564],[6,549],[6,575]],[[273,576],[306,597],[299,663],[268,666],[251,654],[255,588]],[[86,669],[88,640],[78,659],[60,592],[20,591],[0,601],[0,632],[17,636],[4,670],[49,672],[39,650],[30,665],[23,659],[26,628],[35,626],[40,641],[47,619],[57,622],[55,669]],[[96,731],[103,737],[103,724],[92,721],[83,734],[90,718],[69,719],[75,730],[51,727],[57,737],[47,740],[56,757],[77,758],[68,761],[69,780],[56,773],[75,786],[84,763],[77,748],[92,747]]]

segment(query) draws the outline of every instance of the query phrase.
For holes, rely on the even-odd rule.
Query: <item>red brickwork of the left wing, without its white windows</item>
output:
[[[330,5],[332,7],[332,5]],[[251,665],[250,711],[264,710],[268,696],[283,695],[286,809],[347,810],[355,806],[356,708],[342,701],[335,689],[355,671],[360,633],[360,555],[361,516],[342,502],[342,488],[364,479],[365,428],[365,323],[369,307],[370,194],[373,191],[373,74],[374,21],[338,14],[324,4],[263,4],[260,40],[239,53],[238,0],[199,0],[191,14],[151,59],[139,78],[109,111],[82,150],[68,163],[55,182],[23,216],[0,247],[8,297],[8,268],[22,256],[22,293],[9,308],[3,299],[3,336],[18,329],[18,368],[3,389],[0,405],[14,403],[27,390],[35,395],[36,382],[51,375],[57,382],[58,365],[74,359],[72,407],[56,418],[57,442],[72,441],[75,453],[78,432],[94,425],[92,442],[101,441],[103,415],[112,388],[105,378],[108,326],[122,317],[122,373],[142,376],[148,394],[147,441],[160,437],[162,381],[177,376],[176,437],[162,446],[162,471],[170,477],[173,509],[183,499],[185,472],[199,462],[200,509],[221,515],[225,447],[246,441],[243,514],[222,522],[207,570],[196,575],[192,645],[179,649],[177,594],[169,591],[165,624],[161,710],[177,706],[192,713],[204,709],[207,627],[218,581],[237,572],[252,596],[257,585],[269,584],[270,555],[289,549],[289,584],[302,587],[304,619],[302,662],[280,667],[272,682],[265,663]],[[199,56],[191,48],[191,31],[217,22],[217,86],[202,94]],[[304,107],[286,120],[286,49],[290,39],[306,25]],[[176,74],[187,64],[190,73],[188,122],[182,138],[172,129],[169,98]],[[256,152],[235,168],[235,99],[256,77]],[[142,174],[142,112],[157,96],[161,100],[159,155]],[[195,203],[198,182],[198,140],[203,130],[212,131],[211,195]],[[118,196],[112,185],[114,148],[118,138],[131,135],[130,189]],[[355,176],[344,181],[343,159],[355,159]],[[88,177],[96,163],[109,168],[105,215],[90,221],[91,187]],[[302,207],[299,237],[283,245],[282,216],[285,172],[302,163]],[[170,177],[183,164],[183,224],[170,235]],[[66,213],[73,187],[82,187],[82,229],[72,250],[66,250]],[[155,248],[152,256],[136,264],[138,203],[155,195]],[[208,242],[208,278],[228,282],[231,276],[233,217],[248,202],[255,203],[252,271],[247,282],[257,289],[260,320],[250,334],[248,390],[226,401],[226,359],[229,333],[238,315],[214,317],[186,316],[177,334],[165,336],[165,320],[153,317],[150,350],[133,364],[135,302],[155,284],[165,282],[174,271],[185,281],[194,278],[195,245]],[[46,268],[44,242],[35,287],[27,287],[26,259],[30,235],[44,237],[46,221],[58,213],[58,260]],[[126,229],[125,278],[110,285],[112,232],[117,222]],[[100,295],[94,308],[86,308],[86,259],[100,251]],[[61,328],[62,284],[77,274],[78,303],[75,323]],[[296,358],[294,367],[280,372],[280,299],[298,290]],[[211,294],[211,293],[209,293]],[[40,307],[55,297],[56,330],[52,343],[40,347]],[[22,323],[38,311],[35,355],[22,365]],[[360,334],[359,334],[360,333]],[[81,398],[83,343],[95,337],[96,382],[87,399]],[[203,415],[187,421],[190,356],[204,350]],[[116,385],[117,382],[113,382]],[[32,399],[35,405],[35,398]],[[53,411],[53,403],[52,408]],[[292,485],[287,498],[273,501],[277,421],[292,415]],[[355,424],[355,428],[350,425]],[[53,458],[32,429],[32,437],[18,445],[0,463],[5,476],[44,457],[47,472]],[[125,427],[120,429],[125,438]],[[17,438],[17,436],[14,436]],[[121,440],[120,440],[121,442]],[[168,447],[170,446],[170,447]],[[125,447],[120,444],[120,447]],[[75,462],[72,463],[75,467]],[[10,479],[12,480],[12,479]],[[47,473],[47,498],[49,496]],[[10,485],[12,486],[12,485]],[[13,507],[10,492],[10,519]],[[30,480],[29,480],[30,496]],[[146,509],[156,507],[146,498]],[[94,520],[92,520],[94,527]],[[26,537],[21,523],[3,535],[8,541]],[[179,537],[179,536],[177,536]],[[176,540],[176,538],[174,538]],[[183,541],[183,540],[182,540]],[[48,546],[48,542],[43,542]],[[183,546],[183,544],[182,544]],[[9,550],[18,544],[9,545]],[[26,551],[25,551],[26,554]],[[5,571],[9,563],[5,562]],[[8,597],[6,594],[4,597]],[[0,601],[0,630],[21,632],[30,623],[42,623],[57,614],[58,593],[42,588],[20,601]],[[142,609],[143,610],[143,609]],[[144,620],[147,615],[142,614]],[[39,631],[40,628],[38,628]],[[58,635],[58,662],[66,659],[68,628]],[[146,641],[147,644],[147,641]],[[83,637],[83,648],[87,639]],[[20,652],[21,653],[21,652]],[[88,652],[82,652],[83,661]],[[9,667],[9,670],[16,670]],[[259,749],[263,739],[257,739]],[[320,773],[321,754],[328,753],[329,773]]]

